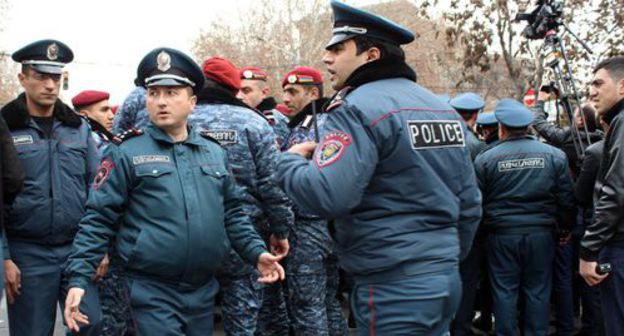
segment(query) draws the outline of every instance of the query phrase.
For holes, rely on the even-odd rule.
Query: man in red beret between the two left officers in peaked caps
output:
[[[106,146],[114,140],[111,133],[113,129],[113,109],[108,102],[110,95],[108,92],[85,90],[72,98],[72,104],[78,114],[87,118],[91,126],[93,139],[98,149],[100,157]]]

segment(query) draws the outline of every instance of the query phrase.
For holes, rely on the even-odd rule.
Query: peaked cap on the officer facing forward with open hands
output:
[[[204,73],[183,52],[172,48],[156,48],[139,63],[136,82],[145,88],[190,86],[197,93],[204,87]]]

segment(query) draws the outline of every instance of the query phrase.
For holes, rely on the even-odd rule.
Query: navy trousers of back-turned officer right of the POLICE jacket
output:
[[[555,240],[550,228],[526,234],[492,233],[488,267],[496,335],[515,335],[522,295],[523,335],[547,335]]]

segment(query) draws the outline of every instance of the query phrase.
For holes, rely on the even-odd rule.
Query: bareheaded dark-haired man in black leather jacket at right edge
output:
[[[579,270],[585,281],[600,284],[600,300],[607,335],[624,334],[624,57],[600,62],[594,69],[590,98],[598,115],[609,125],[594,194],[595,215],[581,241]],[[598,274],[598,264],[610,263],[609,274]]]

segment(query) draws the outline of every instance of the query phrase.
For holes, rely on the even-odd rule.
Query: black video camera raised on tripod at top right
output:
[[[516,21],[527,21],[522,35],[530,40],[539,40],[561,25],[563,13],[562,0],[538,0],[537,7],[531,13],[519,13]]]

